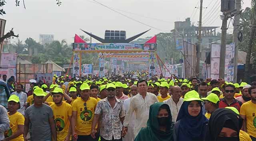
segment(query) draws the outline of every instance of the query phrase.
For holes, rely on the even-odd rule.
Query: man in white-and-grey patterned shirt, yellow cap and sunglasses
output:
[[[96,124],[100,121],[101,141],[122,141],[122,126],[124,121],[124,108],[122,101],[116,98],[116,86],[108,83],[106,87],[108,96],[98,102],[94,119],[92,121],[92,138],[96,139]]]

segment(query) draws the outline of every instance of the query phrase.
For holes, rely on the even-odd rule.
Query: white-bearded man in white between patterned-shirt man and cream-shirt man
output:
[[[137,85],[132,85],[131,95],[130,95],[131,97],[128,99],[125,99],[124,104],[123,104],[125,114],[128,113],[128,109],[130,107],[130,101],[131,101],[132,97],[134,97],[137,94],[138,94]],[[135,116],[134,116],[134,113],[132,113],[132,119],[130,121],[130,124],[128,125],[128,132],[127,132],[127,135],[124,136],[123,141],[133,141],[134,140],[134,125],[135,125]]]

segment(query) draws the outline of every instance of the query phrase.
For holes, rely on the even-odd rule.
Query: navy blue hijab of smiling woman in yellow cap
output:
[[[188,105],[191,101],[184,101],[178,113],[177,121],[180,120],[180,127],[178,127],[178,141],[202,141],[206,132],[204,125],[208,123],[208,119],[202,114],[202,103],[198,101],[201,106],[200,113],[193,117],[188,113]]]

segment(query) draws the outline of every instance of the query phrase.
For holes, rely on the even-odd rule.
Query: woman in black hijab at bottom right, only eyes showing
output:
[[[209,119],[206,141],[251,141],[250,136],[240,130],[243,119],[234,107],[216,109]]]

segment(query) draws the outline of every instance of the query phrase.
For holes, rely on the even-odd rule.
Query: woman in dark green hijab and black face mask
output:
[[[170,107],[162,102],[150,106],[147,127],[140,129],[134,141],[173,141]]]

